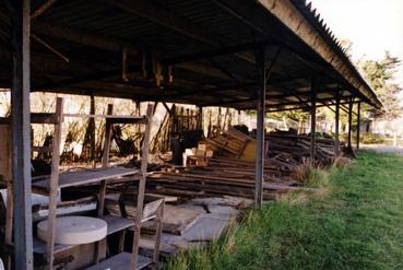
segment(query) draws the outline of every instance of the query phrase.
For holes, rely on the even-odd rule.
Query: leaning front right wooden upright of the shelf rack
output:
[[[135,212],[135,224],[134,224],[134,233],[133,233],[133,246],[132,246],[132,257],[131,257],[131,268],[135,269],[138,263],[138,254],[139,254],[139,244],[140,244],[140,233],[141,233],[141,223],[143,220],[143,204],[144,204],[144,192],[145,192],[145,181],[147,177],[147,163],[149,163],[149,145],[150,145],[150,131],[152,125],[152,116],[153,116],[153,106],[149,105],[147,107],[147,117],[149,122],[145,127],[144,131],[144,140],[141,153],[141,167],[140,167],[140,183],[139,183],[139,191],[138,191],[138,203],[137,203],[137,212]]]

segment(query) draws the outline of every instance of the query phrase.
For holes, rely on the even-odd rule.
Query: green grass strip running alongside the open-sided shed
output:
[[[403,269],[403,157],[360,152],[327,177],[324,196],[248,210],[225,236],[165,269]]]

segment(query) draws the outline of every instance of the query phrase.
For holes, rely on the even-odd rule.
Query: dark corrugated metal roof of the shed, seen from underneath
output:
[[[365,83],[311,5],[304,0],[291,1]],[[36,0],[33,7],[42,2]],[[137,4],[139,2],[143,4]],[[0,12],[0,20],[5,22],[0,24],[0,42],[7,43],[10,25],[1,5]],[[278,46],[283,47],[269,81],[268,104],[271,106],[286,107],[298,102],[301,107],[309,106],[307,90],[309,92],[312,77],[319,74],[324,74],[319,101],[334,99],[341,86],[345,89],[343,98],[366,98],[346,85],[337,72],[254,1],[56,1],[32,24],[35,35],[70,59],[66,63],[33,42],[32,84],[35,91],[253,108],[259,87],[253,47],[175,63],[174,81],[164,80],[161,86],[155,80],[142,77],[142,56],[144,51],[152,51],[155,62],[168,62],[181,56],[189,58],[194,54],[264,42],[268,61]],[[74,37],[63,33],[72,33]],[[121,79],[123,47],[130,47],[128,82]],[[0,52],[4,51],[7,46],[0,43]],[[3,57],[1,60],[0,68],[7,69],[10,59]],[[164,72],[167,68],[163,67]],[[0,74],[0,86],[8,84],[9,79]],[[375,95],[371,99],[377,101]]]

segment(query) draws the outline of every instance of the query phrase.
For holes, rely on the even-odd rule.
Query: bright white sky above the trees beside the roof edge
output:
[[[340,39],[353,43],[353,60],[379,60],[389,50],[403,61],[403,0],[311,0]],[[403,63],[396,73],[403,87]]]

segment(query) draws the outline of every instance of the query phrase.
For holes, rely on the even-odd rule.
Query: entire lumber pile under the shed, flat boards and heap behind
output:
[[[343,144],[341,144],[341,148]],[[265,136],[263,198],[307,190],[294,179],[296,168],[309,157],[310,138],[288,131]],[[253,198],[256,178],[256,140],[238,130],[217,130],[193,149],[187,167],[165,168],[149,176],[156,192],[171,196],[237,196]],[[334,141],[317,139],[316,162],[330,165],[334,160]]]

